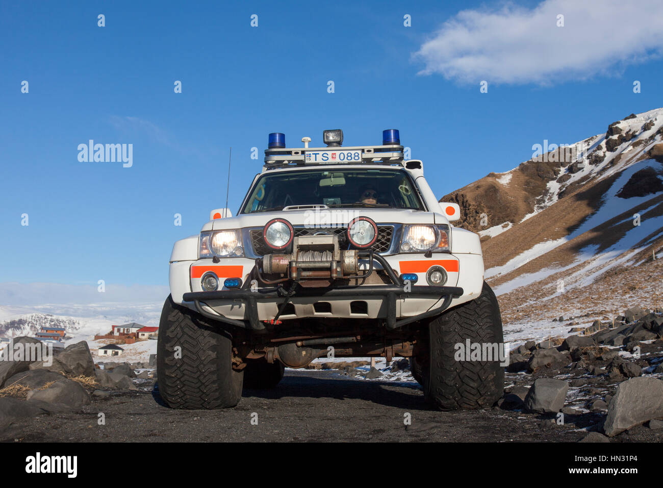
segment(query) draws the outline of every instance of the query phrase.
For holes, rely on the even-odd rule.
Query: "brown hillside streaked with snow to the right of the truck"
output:
[[[485,278],[507,319],[542,301],[576,311],[619,310],[626,297],[629,305],[660,303],[660,275],[642,277],[655,276],[653,258],[663,258],[662,139],[663,109],[631,114],[572,145],[584,148],[582,158],[557,149],[442,199],[461,204],[459,226],[482,236]],[[612,306],[599,295],[583,301],[594,285],[613,291],[605,297]]]

